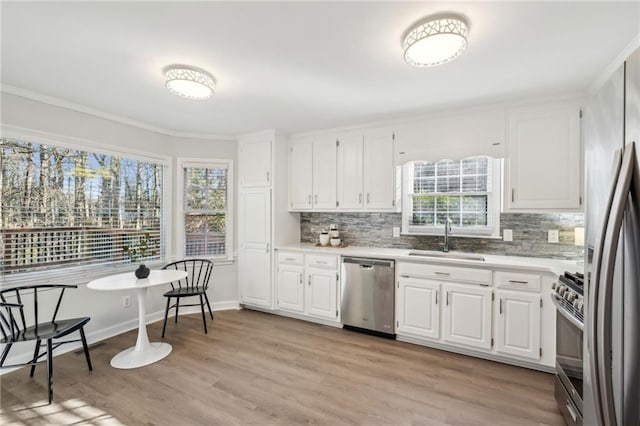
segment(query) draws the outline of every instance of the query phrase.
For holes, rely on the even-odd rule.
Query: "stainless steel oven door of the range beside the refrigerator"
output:
[[[581,415],[583,325],[563,307],[556,311],[556,372]]]

